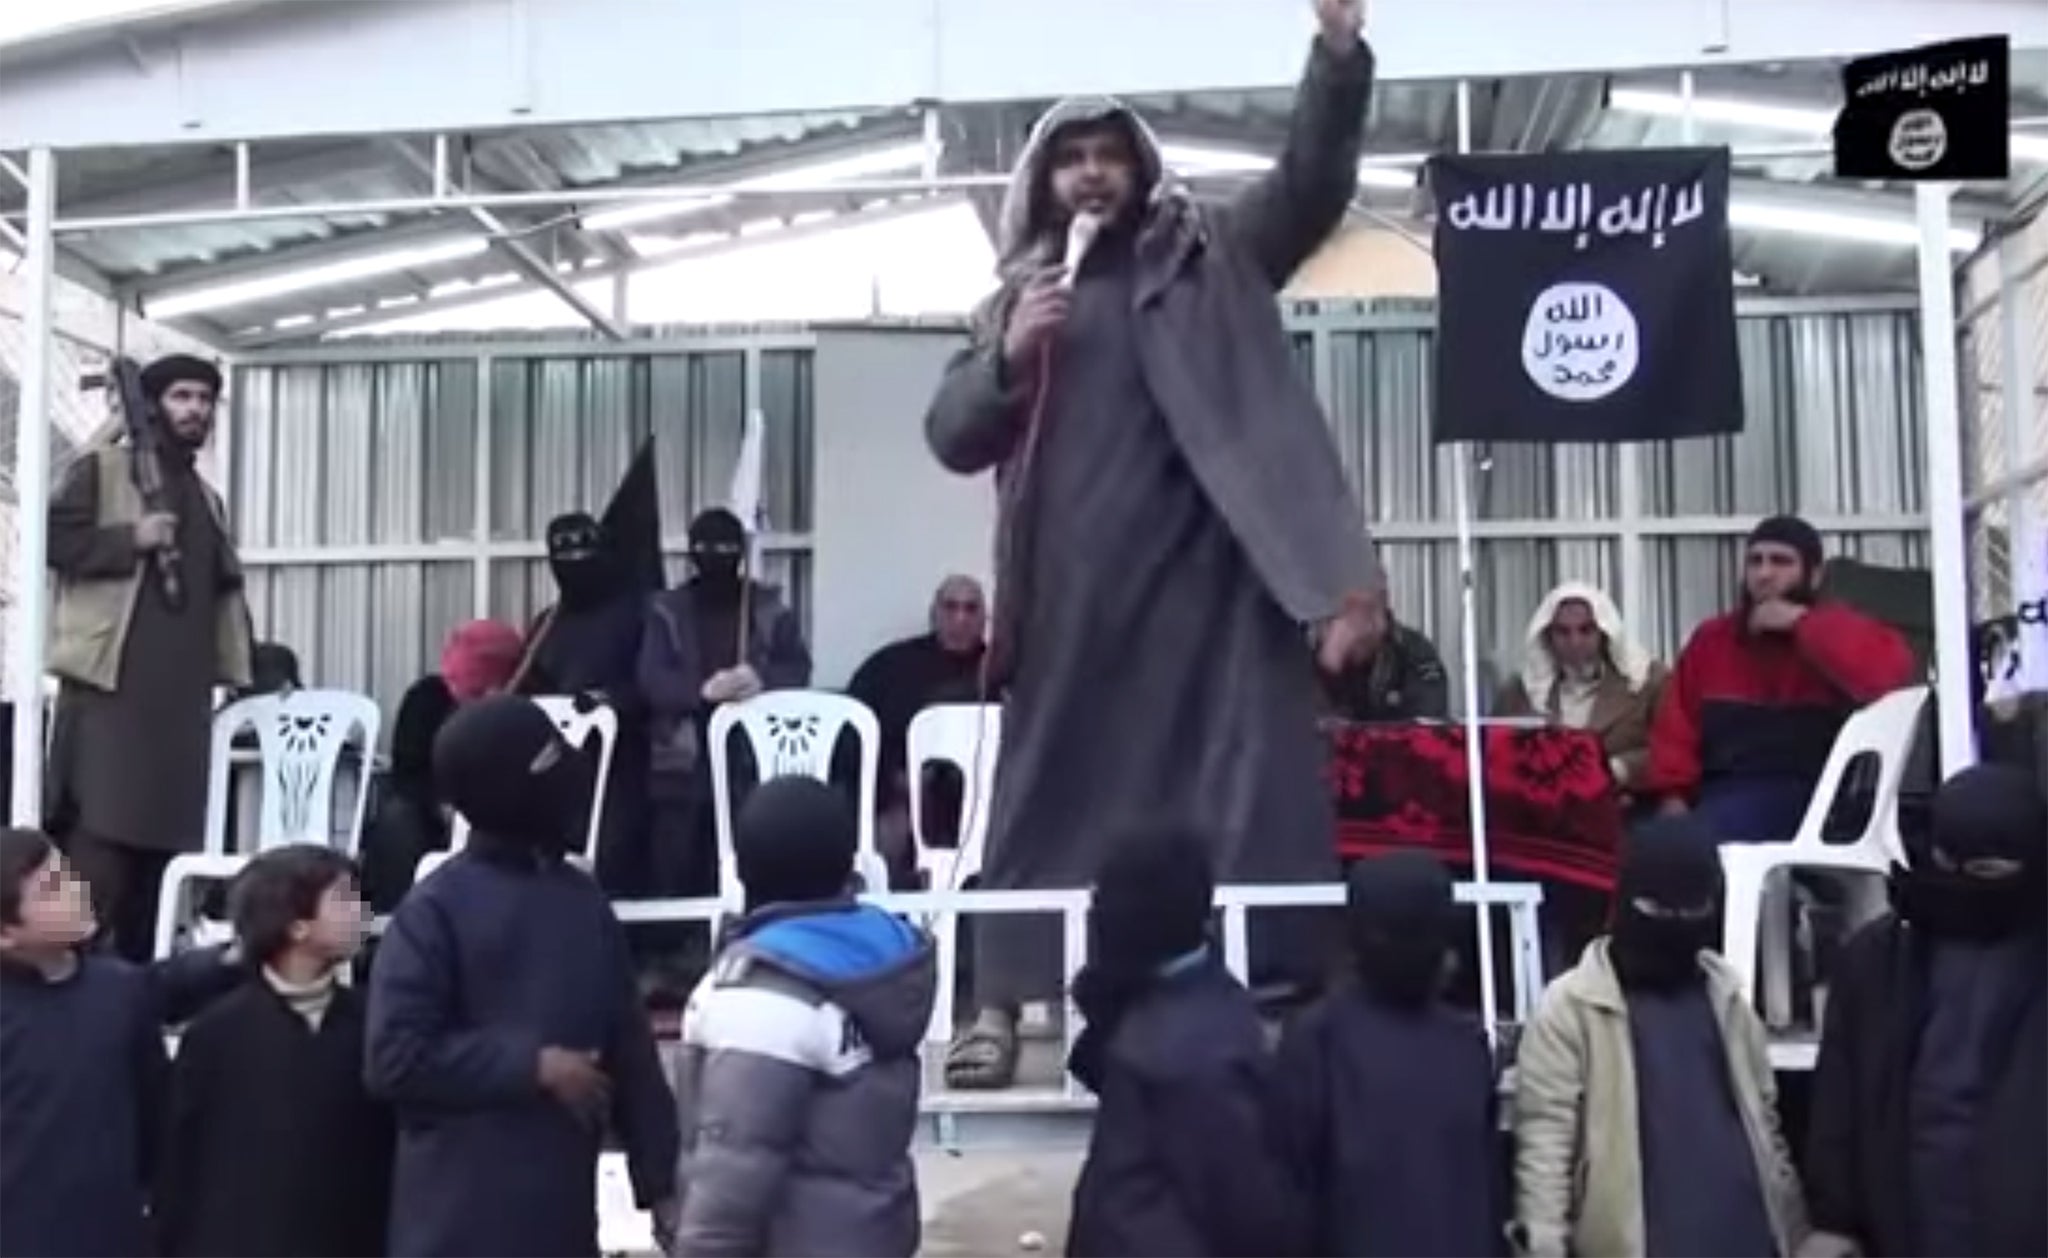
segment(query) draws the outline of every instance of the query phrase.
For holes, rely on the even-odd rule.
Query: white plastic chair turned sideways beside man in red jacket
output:
[[[1761,955],[1767,1026],[1786,1026],[1792,1020],[1792,885],[1790,879],[1772,885],[1772,875],[1792,869],[1835,869],[1882,877],[1894,863],[1905,863],[1905,844],[1898,838],[1898,783],[1925,705],[1927,686],[1907,686],[1843,723],[1792,842],[1720,844],[1720,871],[1726,881],[1720,955],[1741,973],[1743,990],[1751,996],[1757,990]],[[1823,842],[1821,832],[1841,793],[1841,779],[1860,756],[1878,758],[1870,822],[1853,842]],[[1876,906],[1876,897],[1868,891],[1855,899],[1860,912],[1851,914],[1851,928]]]

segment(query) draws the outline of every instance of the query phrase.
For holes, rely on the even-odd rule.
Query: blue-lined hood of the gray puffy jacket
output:
[[[932,1020],[932,936],[868,904],[772,906],[739,926],[737,951],[817,988],[877,1057],[915,1053]]]

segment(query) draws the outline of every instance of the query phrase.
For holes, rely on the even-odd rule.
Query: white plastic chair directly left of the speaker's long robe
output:
[[[940,703],[920,711],[905,736],[905,777],[909,781],[909,834],[918,844],[918,869],[934,893],[958,891],[981,873],[981,850],[989,836],[989,801],[995,789],[995,760],[1001,752],[1004,709],[995,703]],[[958,846],[932,846],[924,830],[924,768],[952,764],[961,770]],[[932,1004],[928,1037],[952,1035],[952,990],[961,965],[958,914],[934,914],[932,940],[938,947],[938,1000]]]

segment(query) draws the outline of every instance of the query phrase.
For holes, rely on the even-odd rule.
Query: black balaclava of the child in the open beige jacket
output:
[[[1700,979],[1700,953],[1720,928],[1720,848],[1694,817],[1657,817],[1628,836],[1614,885],[1608,957],[1622,988],[1671,990]]]

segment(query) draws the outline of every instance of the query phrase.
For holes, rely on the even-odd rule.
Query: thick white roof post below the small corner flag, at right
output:
[[[1962,395],[1956,375],[1956,279],[1950,270],[1954,184],[1917,184],[1921,361],[1927,391],[1927,565],[1933,570],[1935,715],[1942,774],[1976,762],[1970,721],[1970,582],[1962,525]]]

